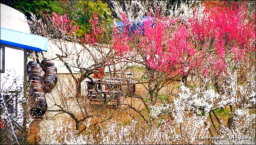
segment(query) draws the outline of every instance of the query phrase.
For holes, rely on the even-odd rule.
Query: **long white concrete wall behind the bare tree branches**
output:
[[[44,52],[45,57],[48,59],[54,59],[53,62],[57,67],[57,73],[69,73],[69,70],[66,68],[64,63],[59,60],[59,58],[56,58],[56,54],[63,54],[61,49],[65,52],[65,54],[68,55],[67,58],[64,58],[64,60],[69,64],[69,66],[77,66],[76,60],[79,57],[79,62],[81,63],[80,67],[83,68],[90,68],[91,65],[93,65],[94,59],[102,60],[104,59],[105,55],[101,54],[99,51],[95,49],[95,47],[91,47],[90,45],[86,45],[86,47],[90,50],[87,51],[83,46],[79,45],[78,43],[68,42],[68,41],[61,41],[61,40],[50,40],[48,41],[48,51]],[[105,54],[107,54],[110,50],[112,45],[102,45],[98,44],[98,49],[103,51]],[[79,53],[78,53],[79,52]],[[135,54],[132,54],[135,55]],[[138,59],[141,60],[140,57]],[[29,60],[28,60],[29,61]],[[40,60],[41,61],[41,60]],[[123,60],[124,61],[124,60]],[[118,69],[125,69],[127,62],[120,62],[116,64],[115,66],[110,65],[110,71],[113,72],[114,68]],[[141,66],[138,63],[128,63],[129,66]],[[79,69],[75,67],[70,67],[73,73],[79,73]],[[109,73],[109,68],[105,68],[105,73]]]

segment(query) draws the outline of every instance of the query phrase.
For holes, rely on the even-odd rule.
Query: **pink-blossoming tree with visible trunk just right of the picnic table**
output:
[[[135,29],[123,13],[124,27],[114,29],[113,47],[118,56],[136,62],[145,70],[137,84],[147,84],[144,87],[148,95],[132,97],[143,102],[147,117],[144,117],[144,111],[135,111],[150,123],[154,118],[148,114],[151,110],[149,106],[154,106],[160,100],[159,91],[163,87],[175,83],[176,77],[188,75],[195,50],[188,41],[187,27],[176,24],[179,19],[151,14],[144,18],[143,24]]]

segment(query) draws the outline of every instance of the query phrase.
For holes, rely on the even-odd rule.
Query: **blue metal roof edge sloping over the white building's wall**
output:
[[[34,51],[47,51],[48,38],[1,28],[1,43]]]

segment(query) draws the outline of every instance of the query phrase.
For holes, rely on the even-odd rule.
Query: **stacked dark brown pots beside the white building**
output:
[[[42,62],[41,66],[43,67],[37,61],[29,61],[27,64],[28,87],[31,96],[30,115],[33,116],[44,116],[45,111],[42,111],[41,108],[43,110],[47,109],[45,93],[51,92],[57,83],[57,72],[54,63],[49,60],[43,60]],[[48,65],[52,67],[47,68]]]

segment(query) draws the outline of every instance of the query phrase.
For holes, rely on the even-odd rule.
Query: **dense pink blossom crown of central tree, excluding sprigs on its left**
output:
[[[184,74],[195,50],[187,42],[187,30],[184,26],[178,26],[172,35],[168,34],[174,22],[158,18],[154,22],[155,27],[151,27],[153,22],[148,19],[144,28],[145,37],[139,46],[144,50],[147,63],[152,69]]]

